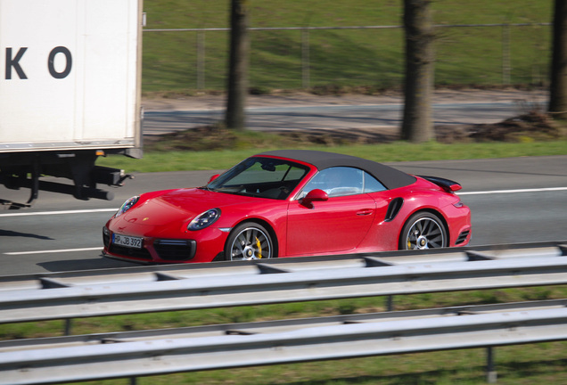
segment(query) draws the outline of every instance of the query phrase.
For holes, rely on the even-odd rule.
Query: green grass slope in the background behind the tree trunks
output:
[[[403,2],[384,0],[251,1],[251,27],[399,26]],[[546,23],[552,0],[514,2],[438,0],[431,3],[438,25]],[[145,0],[146,29],[228,27],[227,0]],[[437,29],[437,85],[501,84],[501,27]],[[512,84],[546,82],[551,31],[548,26],[510,29]],[[228,33],[204,35],[204,89],[226,83]],[[197,32],[145,32],[143,89],[193,94],[197,85]],[[301,32],[251,31],[251,87],[297,89],[301,81]],[[403,29],[325,29],[309,33],[309,86],[399,87],[403,81]]]

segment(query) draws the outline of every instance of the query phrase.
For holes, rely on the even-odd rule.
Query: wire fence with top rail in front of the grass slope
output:
[[[436,25],[436,85],[545,85],[551,23]],[[144,29],[144,90],[223,89],[230,29]],[[251,89],[400,86],[402,26],[251,28]]]

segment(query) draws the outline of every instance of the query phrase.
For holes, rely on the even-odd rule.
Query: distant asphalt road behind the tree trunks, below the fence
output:
[[[522,112],[516,102],[445,102],[433,105],[435,125],[492,123]],[[144,135],[211,125],[223,119],[224,109],[147,111]],[[306,129],[390,128],[397,132],[403,104],[254,107],[247,109],[246,127],[258,131]]]

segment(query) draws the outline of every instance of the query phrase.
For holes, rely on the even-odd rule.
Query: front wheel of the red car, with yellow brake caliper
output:
[[[267,259],[274,257],[274,244],[262,225],[245,222],[234,227],[225,246],[226,260]]]

